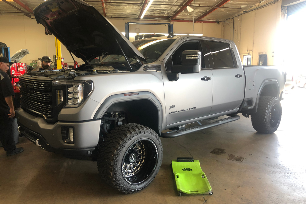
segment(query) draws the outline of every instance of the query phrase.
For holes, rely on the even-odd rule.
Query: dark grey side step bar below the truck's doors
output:
[[[220,119],[220,120],[215,121],[213,123],[209,123],[209,124],[205,124],[205,125],[192,126],[190,128],[186,128],[186,129],[183,129],[183,130],[172,130],[172,131],[169,131],[169,132],[162,132],[160,137],[165,137],[165,138],[179,137],[179,136],[191,133],[191,132],[196,132],[198,130],[203,130],[203,129],[215,127],[215,126],[218,126],[218,125],[222,125],[222,124],[225,124],[225,123],[229,123],[229,122],[232,122],[232,121],[237,121],[240,118],[236,114],[229,114],[227,116],[230,116],[230,117],[223,118],[223,119]]]

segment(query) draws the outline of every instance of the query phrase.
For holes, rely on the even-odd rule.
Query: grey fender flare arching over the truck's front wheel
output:
[[[137,92],[137,93],[139,93],[138,95],[125,96],[125,94],[129,94],[129,93],[115,94],[115,95],[111,95],[108,98],[106,98],[103,101],[103,103],[100,105],[98,110],[95,112],[95,115],[94,115],[93,119],[101,118],[104,115],[104,113],[107,111],[107,109],[115,103],[125,102],[125,101],[135,101],[135,100],[140,100],[140,99],[148,99],[157,108],[158,115],[159,115],[158,129],[161,132],[161,129],[162,129],[162,104],[155,97],[155,95],[152,94],[149,91],[140,91],[140,92]],[[136,93],[136,92],[132,92],[132,93]]]

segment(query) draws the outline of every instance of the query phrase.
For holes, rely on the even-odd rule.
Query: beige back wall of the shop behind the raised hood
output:
[[[114,26],[121,32],[125,32],[124,24],[126,22],[137,22],[134,20],[109,19]],[[146,21],[138,21],[146,22]],[[148,23],[156,21],[147,21]],[[161,21],[165,23],[165,21]],[[192,23],[189,22],[172,22],[174,24],[174,33],[192,34]],[[0,42],[6,43],[10,47],[11,56],[21,49],[28,49],[30,54],[26,55],[21,62],[30,63],[32,60],[48,55],[53,58],[55,51],[55,37],[53,35],[45,35],[45,28],[41,24],[37,24],[36,20],[32,20],[26,16],[0,15]],[[194,34],[203,34],[203,36],[221,38],[222,24],[217,23],[195,23]],[[130,25],[130,33],[168,33],[168,26],[164,25]],[[134,40],[134,37],[130,37]],[[62,45],[62,56],[64,62],[69,65],[73,64],[73,59],[68,50]],[[82,64],[81,59],[75,60]]]

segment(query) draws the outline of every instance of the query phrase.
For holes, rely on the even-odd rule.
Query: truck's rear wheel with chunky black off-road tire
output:
[[[278,98],[261,96],[256,113],[251,114],[253,128],[263,134],[275,132],[281,122],[282,106]]]

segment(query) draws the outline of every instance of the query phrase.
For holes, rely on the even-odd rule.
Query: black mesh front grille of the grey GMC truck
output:
[[[20,78],[21,108],[34,115],[53,118],[52,81]]]

